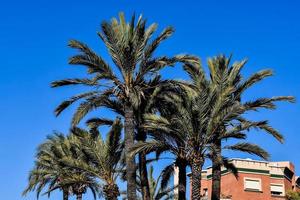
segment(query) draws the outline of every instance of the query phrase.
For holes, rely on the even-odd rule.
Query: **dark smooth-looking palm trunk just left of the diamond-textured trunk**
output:
[[[183,160],[177,160],[176,166],[178,167],[178,200],[186,199],[186,167],[187,163]]]

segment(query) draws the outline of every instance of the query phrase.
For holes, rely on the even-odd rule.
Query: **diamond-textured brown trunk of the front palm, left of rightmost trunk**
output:
[[[192,200],[201,199],[201,172],[204,161],[197,156],[192,162]]]

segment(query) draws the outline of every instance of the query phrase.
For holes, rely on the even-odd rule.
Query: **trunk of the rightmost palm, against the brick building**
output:
[[[212,190],[211,199],[220,200],[221,197],[221,163],[222,147],[221,140],[216,140],[215,152],[212,156]]]

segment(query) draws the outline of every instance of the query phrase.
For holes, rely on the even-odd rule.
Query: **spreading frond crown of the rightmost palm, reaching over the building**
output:
[[[233,132],[239,132],[249,128],[258,128],[271,134],[278,141],[283,142],[283,136],[272,128],[268,124],[268,121],[253,122],[245,119],[244,114],[247,114],[249,111],[258,111],[262,108],[275,109],[276,102],[294,102],[295,99],[292,96],[278,96],[242,102],[242,95],[244,95],[247,89],[273,75],[272,70],[266,69],[256,72],[245,79],[241,71],[246,63],[247,60],[244,59],[231,64],[231,56],[226,58],[224,55],[208,59],[210,86],[224,91],[223,96],[220,96],[220,103],[217,104],[219,105],[219,109],[216,110],[216,113],[219,114],[215,115],[215,121],[219,121],[219,124],[221,124],[222,120],[224,120],[223,127],[227,128],[233,128],[232,123],[236,123],[235,128],[231,129],[227,136],[230,136]],[[221,103],[221,101],[223,101],[223,103]],[[226,115],[228,116],[228,120],[225,118]]]

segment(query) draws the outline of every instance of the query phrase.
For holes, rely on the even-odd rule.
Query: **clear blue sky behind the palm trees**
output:
[[[243,3],[242,3],[243,2]],[[284,3],[285,2],[285,3]],[[20,200],[33,166],[36,146],[52,130],[67,132],[72,109],[55,118],[53,110],[66,97],[77,93],[51,89],[56,79],[84,75],[80,67],[68,66],[74,51],[69,39],[82,40],[107,57],[96,35],[102,20],[119,11],[127,16],[143,13],[149,22],[167,25],[176,33],[160,53],[193,53],[203,61],[219,53],[234,59],[249,58],[243,71],[249,75],[268,67],[275,76],[247,93],[246,98],[275,95],[300,96],[299,1],[2,1],[0,7],[0,193],[1,199]],[[185,78],[180,68],[165,71],[165,77]],[[286,138],[284,145],[262,133],[251,133],[272,155],[272,160],[289,160],[300,175],[299,101],[281,103],[267,118]],[[229,156],[248,157],[229,153]],[[35,199],[28,195],[24,199]],[[57,199],[59,194],[54,194]],[[56,197],[56,198],[55,198]],[[46,199],[46,198],[41,198]]]

